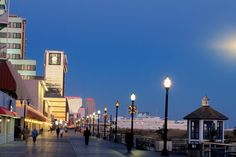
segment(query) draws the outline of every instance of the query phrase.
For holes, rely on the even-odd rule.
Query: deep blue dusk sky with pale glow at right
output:
[[[97,109],[163,117],[166,75],[173,80],[169,118],[210,105],[236,126],[236,1],[12,0],[27,20],[26,56],[43,75],[44,51],[68,56],[66,95],[94,97]]]

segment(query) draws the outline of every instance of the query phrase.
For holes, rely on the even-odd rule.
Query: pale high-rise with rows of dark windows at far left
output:
[[[8,21],[7,27],[0,30],[1,56],[13,64],[23,79],[35,79],[36,60],[25,59],[26,20],[16,15],[10,15]]]

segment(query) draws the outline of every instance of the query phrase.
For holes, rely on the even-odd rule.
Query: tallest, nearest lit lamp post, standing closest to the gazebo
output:
[[[172,82],[169,77],[166,77],[163,84],[166,89],[166,101],[165,101],[164,147],[161,152],[161,155],[168,156],[169,155],[168,150],[167,150],[168,94],[169,94],[169,89],[171,87]]]

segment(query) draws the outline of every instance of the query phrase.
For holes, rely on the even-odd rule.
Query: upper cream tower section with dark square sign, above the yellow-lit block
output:
[[[44,77],[48,87],[47,97],[64,97],[67,57],[63,51],[46,50]]]

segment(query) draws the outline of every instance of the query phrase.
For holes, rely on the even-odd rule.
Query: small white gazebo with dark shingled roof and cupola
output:
[[[224,121],[228,117],[210,107],[208,101],[204,96],[202,106],[184,117],[188,120],[188,144],[192,147],[207,141],[224,142]]]

